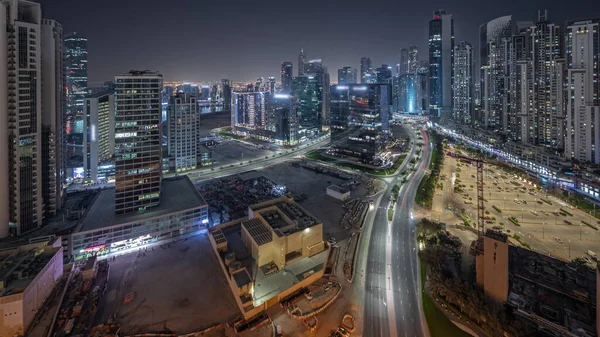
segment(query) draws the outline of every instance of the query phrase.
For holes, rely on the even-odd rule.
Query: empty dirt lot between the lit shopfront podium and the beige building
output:
[[[109,283],[97,323],[115,315],[125,334],[189,333],[240,314],[204,234],[109,263]],[[128,294],[134,299],[125,304]]]

